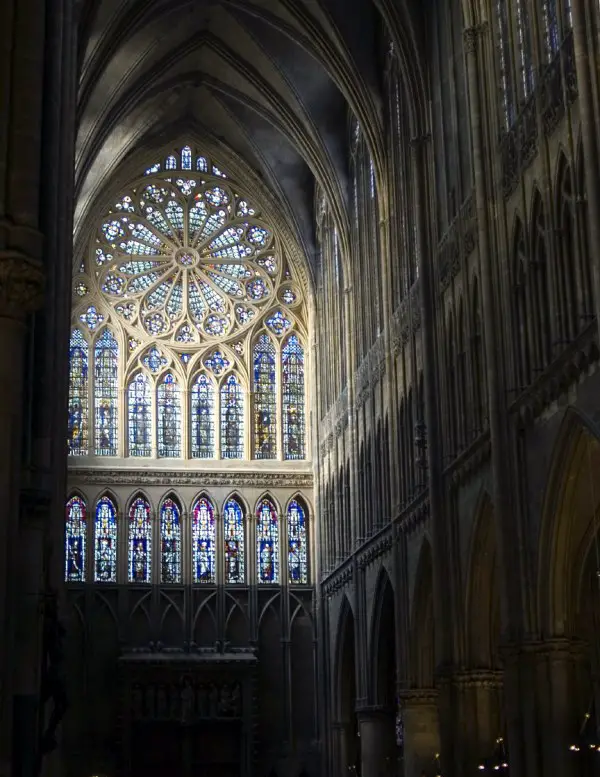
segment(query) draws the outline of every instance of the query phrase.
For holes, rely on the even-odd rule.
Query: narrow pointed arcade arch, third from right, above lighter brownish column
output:
[[[421,543],[410,610],[409,676],[412,687],[433,688],[435,643],[433,557],[428,537]]]

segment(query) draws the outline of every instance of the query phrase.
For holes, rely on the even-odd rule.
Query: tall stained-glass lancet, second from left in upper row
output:
[[[94,349],[94,427],[96,456],[116,456],[118,447],[119,346],[109,329]]]

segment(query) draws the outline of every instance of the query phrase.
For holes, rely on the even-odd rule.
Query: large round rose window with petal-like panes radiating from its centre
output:
[[[101,223],[93,261],[123,322],[146,337],[200,343],[247,329],[277,301],[289,273],[274,243],[221,175],[152,174]]]

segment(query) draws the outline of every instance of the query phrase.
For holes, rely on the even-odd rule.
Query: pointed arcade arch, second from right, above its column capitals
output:
[[[496,527],[490,495],[482,492],[471,532],[468,556],[465,627],[467,665],[497,668],[500,598]]]

